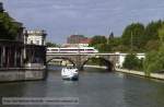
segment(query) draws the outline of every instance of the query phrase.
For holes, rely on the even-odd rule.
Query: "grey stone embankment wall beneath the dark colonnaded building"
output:
[[[44,80],[46,68],[0,69],[0,82]]]

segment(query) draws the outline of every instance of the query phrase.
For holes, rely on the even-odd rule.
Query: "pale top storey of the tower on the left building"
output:
[[[25,43],[27,45],[38,45],[45,46],[46,45],[46,32],[42,29],[36,31],[25,31]]]

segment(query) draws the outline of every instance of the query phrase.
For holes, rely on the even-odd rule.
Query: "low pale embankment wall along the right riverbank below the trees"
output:
[[[150,79],[164,80],[164,73],[151,73],[149,76],[143,71],[126,70],[126,69],[115,69],[117,72],[134,74],[140,76],[145,76]]]

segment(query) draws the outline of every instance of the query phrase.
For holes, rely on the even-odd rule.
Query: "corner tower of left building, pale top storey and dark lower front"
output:
[[[26,67],[42,67],[46,64],[46,31],[24,31]]]

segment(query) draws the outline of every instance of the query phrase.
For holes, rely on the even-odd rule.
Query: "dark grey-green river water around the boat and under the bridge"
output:
[[[59,71],[50,71],[47,81],[0,84],[3,97],[79,97],[79,105],[2,107],[164,107],[163,81],[87,71],[78,82],[62,81]]]

